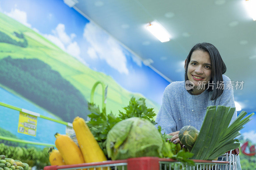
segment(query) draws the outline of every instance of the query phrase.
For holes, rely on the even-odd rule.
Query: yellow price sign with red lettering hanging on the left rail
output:
[[[36,136],[37,117],[28,113],[20,112],[18,132]]]

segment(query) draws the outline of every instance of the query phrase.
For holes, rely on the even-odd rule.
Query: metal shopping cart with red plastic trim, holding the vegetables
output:
[[[45,166],[44,170],[236,170],[236,156],[238,154],[239,149],[237,148],[222,155],[221,161],[193,159],[195,162],[194,166],[177,162],[174,159],[140,157],[76,165]]]

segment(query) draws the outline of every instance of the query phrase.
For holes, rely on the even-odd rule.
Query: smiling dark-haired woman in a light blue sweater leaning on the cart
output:
[[[223,75],[225,72],[220,53],[212,44],[199,43],[190,50],[185,62],[185,81],[174,81],[165,88],[156,117],[156,126],[162,127],[162,133],[172,135],[174,144],[180,142],[178,134],[183,126],[191,125],[200,130],[208,106],[235,107],[233,88],[230,88],[230,79]],[[185,88],[185,82],[194,87]],[[230,123],[236,117],[235,110]],[[239,170],[239,157],[237,163]]]

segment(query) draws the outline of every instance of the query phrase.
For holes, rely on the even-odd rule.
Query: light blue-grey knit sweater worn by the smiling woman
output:
[[[210,100],[212,92],[204,90],[200,95],[190,95],[185,89],[185,81],[174,81],[164,90],[163,103],[156,116],[156,127],[162,127],[161,133],[179,131],[183,126],[191,125],[200,131],[206,114],[206,108],[212,105],[235,107],[233,89],[228,88],[230,79],[222,75],[224,91],[216,100]],[[236,110],[231,119],[232,123],[237,117]],[[214,139],[213,139],[214,140]],[[237,170],[240,170],[238,157]]]

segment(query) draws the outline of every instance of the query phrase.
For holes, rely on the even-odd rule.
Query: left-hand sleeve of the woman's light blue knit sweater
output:
[[[163,103],[156,116],[156,127],[161,126],[161,133],[169,134],[171,132],[177,131],[177,125],[173,119],[172,107],[170,98],[168,97],[167,88],[164,90]]]

